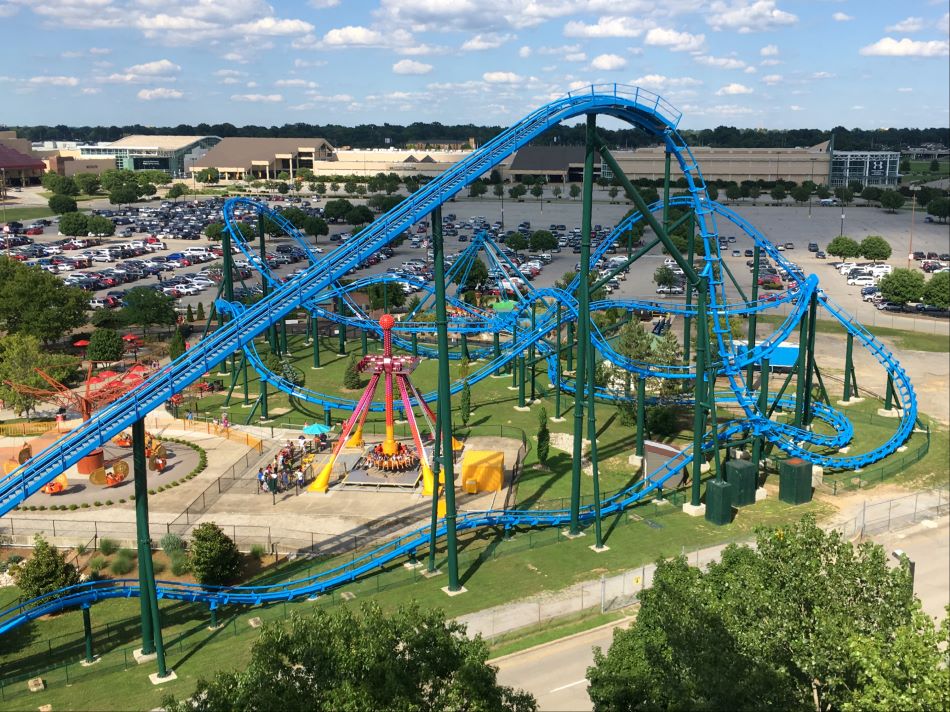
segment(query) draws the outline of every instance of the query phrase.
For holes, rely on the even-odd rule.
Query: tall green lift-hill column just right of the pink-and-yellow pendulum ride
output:
[[[445,453],[445,545],[448,549],[449,591],[460,590],[458,549],[455,536],[455,463],[452,461],[452,393],[449,373],[448,314],[445,308],[445,243],[442,210],[432,211],[432,259],[435,262],[435,320],[439,346],[439,410],[442,452]]]

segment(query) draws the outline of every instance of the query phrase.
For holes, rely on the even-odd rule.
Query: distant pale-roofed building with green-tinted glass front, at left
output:
[[[126,136],[111,143],[79,146],[78,158],[111,158],[114,168],[165,171],[182,177],[219,141],[217,136]]]

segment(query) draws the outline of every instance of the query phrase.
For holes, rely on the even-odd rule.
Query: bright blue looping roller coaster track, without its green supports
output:
[[[23,463],[16,470],[0,478],[0,514],[6,514],[27,498],[78,462],[96,448],[105,445],[111,438],[129,428],[156,408],[160,408],[173,395],[196,382],[215,366],[235,352],[243,350],[253,367],[260,372],[262,380],[286,391],[302,400],[322,404],[333,408],[352,408],[351,400],[317,393],[296,386],[277,374],[269,371],[261,361],[254,346],[254,339],[267,329],[277,325],[288,314],[304,308],[312,315],[332,319],[338,323],[359,329],[376,330],[377,325],[362,312],[350,298],[354,290],[370,284],[385,281],[412,281],[405,276],[380,275],[356,280],[344,284],[341,280],[353,268],[358,267],[366,258],[388,243],[396,240],[414,223],[427,218],[432,211],[456,195],[473,180],[488,173],[502,160],[512,155],[522,146],[561,121],[585,114],[608,115],[637,126],[662,141],[666,149],[676,159],[686,177],[688,190],[686,195],[673,198],[673,205],[691,209],[695,215],[699,237],[702,241],[700,254],[704,266],[702,276],[708,284],[707,313],[713,320],[715,354],[714,367],[720,379],[728,388],[717,391],[717,403],[732,406],[742,417],[720,422],[715,429],[706,433],[702,440],[705,452],[721,447],[730,438],[752,433],[765,438],[790,456],[801,457],[809,462],[825,467],[855,469],[864,467],[894,452],[909,437],[917,417],[917,401],[910,379],[900,363],[883,345],[881,345],[854,317],[832,302],[820,289],[813,275],[805,275],[798,266],[785,259],[759,231],[739,215],[725,206],[711,201],[706,193],[699,165],[689,147],[677,132],[681,115],[662,97],[640,89],[622,85],[591,86],[582,91],[571,92],[566,96],[546,104],[524,117],[521,121],[502,132],[494,139],[469,154],[464,160],[445,173],[423,186],[388,213],[364,228],[350,240],[339,246],[326,257],[315,254],[296,228],[279,213],[266,206],[243,198],[229,200],[224,207],[227,230],[233,243],[245,254],[250,264],[269,282],[270,294],[261,301],[244,306],[219,300],[220,310],[228,312],[232,318],[213,334],[200,341],[184,355],[168,364],[149,377],[141,386],[110,406],[95,413],[68,435],[49,446],[42,452]],[[307,251],[311,265],[303,273],[287,282],[281,282],[267,267],[266,261],[243,234],[237,229],[235,210],[251,209],[266,215],[285,233],[298,240]],[[650,206],[657,211],[662,204]],[[645,218],[635,212],[619,224],[613,234],[604,240],[592,255],[591,264],[604,256],[609,246],[631,226]],[[723,270],[720,269],[717,219],[725,220],[736,226],[744,236],[758,246],[776,265],[784,267],[794,277],[797,286],[781,293],[770,301],[737,302],[726,298],[726,286]],[[497,268],[496,277],[499,289],[511,284],[511,277],[518,276],[517,268],[512,265],[504,253],[486,236],[479,235],[473,244],[459,257],[449,270],[447,281],[456,276],[456,271],[464,277],[466,265],[476,256],[486,259],[490,267]],[[523,275],[522,275],[523,276]],[[464,282],[464,279],[459,280]],[[525,289],[513,290],[516,295],[515,308],[505,314],[492,313],[467,304],[457,291],[448,298],[457,316],[450,320],[449,329],[457,334],[497,333],[505,337],[504,348],[496,353],[491,348],[480,347],[473,350],[473,358],[485,362],[468,376],[469,383],[477,382],[497,372],[509,364],[512,359],[534,346],[536,352],[547,360],[548,375],[552,382],[558,381],[567,391],[574,389],[574,383],[560,375],[557,368],[556,347],[551,341],[551,333],[556,329],[558,318],[566,323],[578,317],[577,301],[574,298],[576,280],[563,289],[536,289],[527,279],[522,280]],[[432,332],[434,324],[420,321],[414,317],[421,314],[425,304],[433,298],[431,289],[422,281],[414,284],[423,291],[422,303],[396,327],[396,335],[403,339],[412,333]],[[825,311],[836,319],[844,330],[852,334],[880,363],[892,380],[900,409],[900,417],[890,438],[869,452],[840,454],[838,448],[847,444],[853,436],[850,421],[831,406],[812,403],[812,417],[821,421],[831,434],[819,433],[815,428],[795,427],[770,419],[768,412],[762,412],[761,394],[750,389],[743,378],[743,371],[750,363],[768,358],[772,351],[800,323],[813,297]],[[349,306],[351,316],[334,313],[330,305],[342,298]],[[788,313],[785,319],[767,338],[761,340],[747,352],[733,343],[728,319],[737,315],[762,313],[778,305],[786,305]],[[536,311],[534,328],[531,328],[530,313]],[[592,311],[621,308],[625,310],[645,309],[666,315],[700,317],[696,306],[681,303],[648,300],[602,300],[591,305]],[[591,338],[600,356],[616,368],[636,374],[671,379],[693,379],[696,374],[690,365],[657,366],[656,364],[635,361],[619,354],[610,341],[596,327]],[[433,355],[434,351],[425,344],[420,353]],[[461,384],[454,384],[457,391]],[[717,386],[718,387],[718,386]],[[433,400],[434,393],[420,396]],[[605,400],[620,400],[625,396],[610,389],[598,389],[597,397]],[[683,398],[684,402],[690,402]],[[776,404],[783,408],[794,408],[795,399],[779,393],[769,393],[766,402],[769,407]],[[382,404],[373,405],[374,410],[382,409]],[[684,471],[695,457],[704,456],[687,448],[676,457],[655,467],[631,487],[613,494],[600,503],[601,514],[606,516],[621,511],[642,501],[644,497],[662,487],[672,478]],[[595,516],[593,505],[581,509],[581,521],[589,521]],[[542,527],[561,526],[569,517],[567,510],[488,510],[462,513],[457,519],[458,530],[474,530],[481,527]],[[438,535],[445,533],[445,523],[440,521]],[[263,586],[216,587],[197,584],[158,581],[158,597],[182,601],[200,601],[211,608],[226,604],[256,605],[276,601],[290,601],[325,593],[335,587],[346,584],[361,576],[379,571],[381,567],[398,560],[417,550],[425,549],[429,543],[428,527],[420,528],[395,538],[383,546],[368,551],[337,568],[322,571],[319,574],[278,584]],[[40,616],[78,605],[90,605],[110,598],[139,596],[138,580],[92,581],[62,589],[51,595],[20,603],[0,612],[0,633],[7,632]]]

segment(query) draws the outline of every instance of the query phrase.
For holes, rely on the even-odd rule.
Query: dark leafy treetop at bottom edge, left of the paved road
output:
[[[251,661],[200,680],[169,712],[480,710],[530,712],[528,693],[498,684],[488,646],[461,623],[413,605],[387,614],[338,607],[264,626]]]

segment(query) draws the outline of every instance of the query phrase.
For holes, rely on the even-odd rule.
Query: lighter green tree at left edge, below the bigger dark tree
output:
[[[49,353],[41,347],[39,339],[29,334],[7,334],[0,338],[0,397],[17,415],[29,416],[37,398],[17,392],[9,383],[48,388],[49,384],[36,372],[37,368],[64,383],[75,375],[76,359]]]

